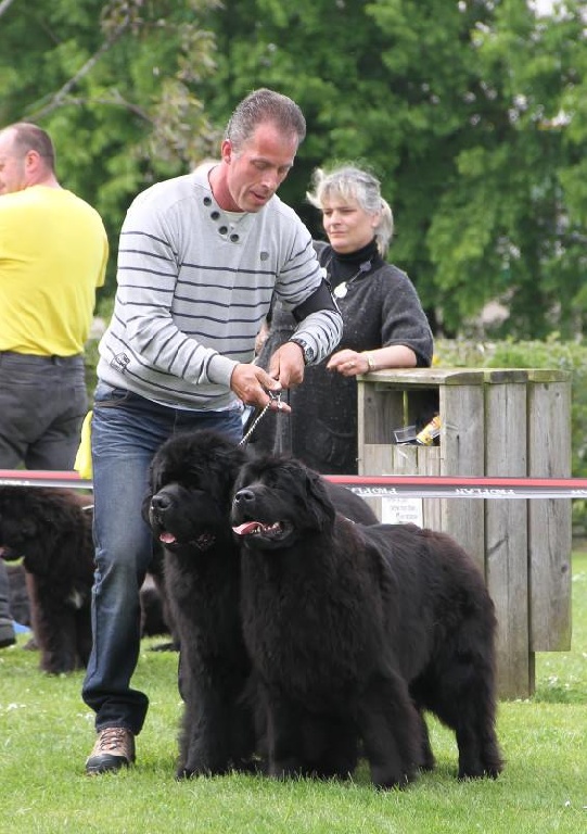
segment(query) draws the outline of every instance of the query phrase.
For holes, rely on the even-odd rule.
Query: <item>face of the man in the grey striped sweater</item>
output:
[[[233,212],[258,212],[272,198],[293,165],[297,137],[283,136],[271,123],[260,124],[239,151],[222,142],[227,187]]]

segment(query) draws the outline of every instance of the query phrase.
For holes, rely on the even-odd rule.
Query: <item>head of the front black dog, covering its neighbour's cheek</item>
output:
[[[246,547],[290,547],[299,539],[328,532],[334,517],[324,481],[295,458],[263,456],[239,473],[231,525]]]

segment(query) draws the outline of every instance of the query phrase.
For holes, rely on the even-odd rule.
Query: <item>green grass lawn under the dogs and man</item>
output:
[[[176,782],[177,656],[143,642],[135,683],[151,698],[138,762],[85,775],[93,713],[81,673],[41,673],[18,644],[0,652],[0,834],[544,834],[587,831],[587,555],[573,558],[571,652],[537,656],[536,694],[499,705],[507,759],[495,782],[459,783],[454,736],[430,721],[433,773],[378,792],[229,775]]]

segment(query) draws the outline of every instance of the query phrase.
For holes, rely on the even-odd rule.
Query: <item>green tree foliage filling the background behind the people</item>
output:
[[[12,0],[0,122],[51,130],[115,243],[137,191],[217,154],[234,103],[279,89],[308,122],[281,193],[316,235],[312,168],[368,164],[396,216],[391,255],[446,332],[499,299],[502,331],[570,338],[587,307],[585,5]]]

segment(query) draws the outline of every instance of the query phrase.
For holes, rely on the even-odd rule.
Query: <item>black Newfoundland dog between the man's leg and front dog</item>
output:
[[[143,516],[165,551],[165,589],[180,644],[184,700],[178,778],[260,767],[258,709],[240,617],[240,551],[230,528],[248,453],[212,430],[187,431],[155,454]],[[341,510],[377,522],[367,504],[331,484]]]

